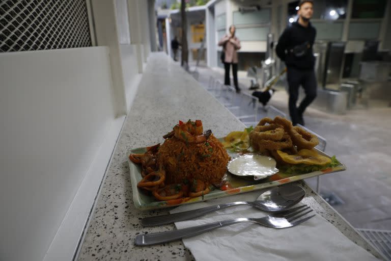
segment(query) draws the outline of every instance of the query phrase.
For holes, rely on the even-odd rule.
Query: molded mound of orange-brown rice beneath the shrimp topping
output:
[[[218,185],[226,173],[230,156],[213,134],[205,142],[189,143],[176,137],[159,148],[159,162],[166,171],[166,183],[178,184],[201,179]]]

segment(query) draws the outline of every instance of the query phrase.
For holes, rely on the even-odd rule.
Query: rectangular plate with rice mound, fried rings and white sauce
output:
[[[141,210],[260,190],[343,171],[315,148],[317,137],[281,117],[216,138],[201,120],[179,121],[164,142],[128,153],[133,201]]]

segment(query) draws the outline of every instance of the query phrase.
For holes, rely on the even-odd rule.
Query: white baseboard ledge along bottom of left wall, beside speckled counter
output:
[[[111,124],[59,230],[45,254],[44,261],[72,260],[88,222],[95,199],[98,196],[100,185],[110,163],[111,155],[117,144],[124,121],[125,116],[121,116]]]

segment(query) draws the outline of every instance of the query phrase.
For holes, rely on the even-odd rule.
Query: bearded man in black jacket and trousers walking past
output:
[[[276,46],[277,56],[285,62],[288,69],[289,114],[293,125],[304,125],[305,108],[316,97],[315,57],[312,49],[316,30],[310,23],[313,12],[312,1],[300,1],[297,11],[299,18],[285,29]],[[296,107],[300,85],[305,97],[299,107]]]

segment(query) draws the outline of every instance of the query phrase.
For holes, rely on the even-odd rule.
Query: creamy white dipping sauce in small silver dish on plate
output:
[[[268,156],[243,154],[228,163],[228,171],[237,176],[254,176],[261,179],[278,172],[275,160]]]

